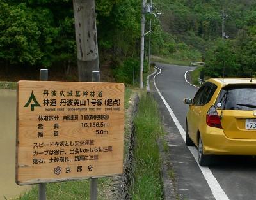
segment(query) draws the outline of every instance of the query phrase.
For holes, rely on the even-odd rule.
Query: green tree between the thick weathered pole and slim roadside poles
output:
[[[99,15],[97,24],[101,50],[111,50],[115,57],[138,54],[140,41],[140,1],[122,1],[113,5],[111,15]]]

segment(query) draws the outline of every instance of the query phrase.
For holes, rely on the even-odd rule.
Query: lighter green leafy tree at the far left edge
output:
[[[8,64],[35,65],[43,53],[38,45],[40,31],[26,4],[0,2],[0,59]]]

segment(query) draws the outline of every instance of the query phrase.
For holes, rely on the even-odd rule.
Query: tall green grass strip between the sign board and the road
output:
[[[157,139],[163,135],[158,105],[152,96],[141,94],[134,119],[134,181],[132,199],[163,199],[161,158]]]

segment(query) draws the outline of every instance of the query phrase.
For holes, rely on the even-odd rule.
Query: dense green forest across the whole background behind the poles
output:
[[[255,0],[152,2],[145,20],[145,31],[152,21],[152,54],[203,61],[210,77],[256,76]],[[140,70],[141,0],[95,4],[100,69],[131,84],[134,68],[136,76]],[[0,8],[1,71],[61,66],[68,74],[69,66],[76,68],[72,0],[0,0]]]

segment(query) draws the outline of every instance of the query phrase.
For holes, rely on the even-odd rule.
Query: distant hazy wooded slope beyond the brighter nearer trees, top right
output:
[[[255,0],[164,0],[161,25],[177,41],[205,50],[207,43],[222,36],[220,15],[225,15],[225,38],[234,39],[243,27],[255,25],[255,10]]]

